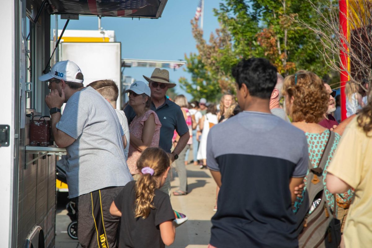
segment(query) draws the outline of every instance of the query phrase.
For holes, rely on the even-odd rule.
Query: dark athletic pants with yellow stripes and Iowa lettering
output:
[[[77,237],[81,247],[118,246],[120,217],[110,214],[110,206],[123,187],[108,187],[78,196]]]

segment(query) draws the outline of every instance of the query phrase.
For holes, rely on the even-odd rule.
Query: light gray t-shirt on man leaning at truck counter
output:
[[[68,99],[56,127],[76,139],[66,147],[69,198],[133,180],[125,161],[124,135],[110,103],[92,87]]]

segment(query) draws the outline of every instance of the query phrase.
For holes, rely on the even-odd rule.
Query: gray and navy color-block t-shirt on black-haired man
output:
[[[289,181],[308,168],[304,132],[277,116],[241,112],[208,134],[207,165],[220,171],[210,244],[298,247]]]

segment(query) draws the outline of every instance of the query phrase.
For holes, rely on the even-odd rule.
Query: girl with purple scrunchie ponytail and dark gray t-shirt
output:
[[[116,196],[110,213],[121,216],[119,248],[164,247],[176,235],[169,196],[160,191],[170,168],[167,153],[147,148],[137,160],[140,178],[126,184]]]

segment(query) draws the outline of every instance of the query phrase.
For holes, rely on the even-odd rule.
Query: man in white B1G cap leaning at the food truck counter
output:
[[[118,245],[120,218],[109,213],[123,186],[133,180],[124,154],[124,132],[110,103],[92,87],[72,61],[57,62],[39,77],[51,93],[45,97],[55,143],[66,148],[68,197],[76,198],[78,239],[82,247]],[[66,106],[61,115],[61,106]],[[97,237],[100,236],[100,240]]]

